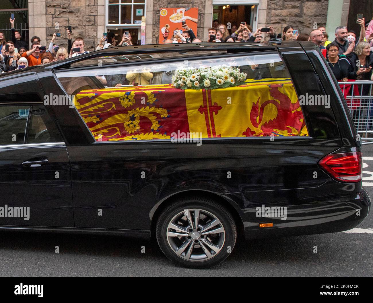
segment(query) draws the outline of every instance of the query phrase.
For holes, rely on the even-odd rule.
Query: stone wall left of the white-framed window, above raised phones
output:
[[[47,47],[59,24],[61,37],[54,41],[60,47],[67,48],[66,27],[72,27],[72,39],[84,38],[85,50],[93,51],[97,44],[98,3],[100,0],[46,0],[46,40]]]

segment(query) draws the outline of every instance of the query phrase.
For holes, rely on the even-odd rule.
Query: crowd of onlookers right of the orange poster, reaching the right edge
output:
[[[209,40],[204,42],[262,42],[273,38],[281,40],[311,41],[316,44],[331,67],[338,81],[348,79],[373,80],[373,17],[365,23],[365,19],[358,19],[360,33],[357,37],[355,31],[348,30],[347,26],[338,26],[335,29],[334,41],[329,41],[325,26],[319,26],[309,34],[300,33],[292,25],[285,26],[282,33],[276,35],[273,26],[258,28],[253,31],[250,25],[241,22],[239,26],[231,25],[227,28],[218,20],[208,29]],[[198,39],[191,28],[185,23],[182,34],[175,32],[172,39],[164,43],[196,43]],[[267,35],[267,37],[266,37]]]

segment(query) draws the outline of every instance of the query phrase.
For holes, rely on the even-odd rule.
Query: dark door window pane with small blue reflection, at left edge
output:
[[[0,106],[0,145],[23,144],[30,106]]]

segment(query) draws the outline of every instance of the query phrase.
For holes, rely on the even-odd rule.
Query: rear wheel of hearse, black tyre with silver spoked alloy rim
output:
[[[236,238],[232,214],[221,203],[205,197],[174,201],[162,211],[156,225],[162,252],[189,268],[222,262],[232,252]]]

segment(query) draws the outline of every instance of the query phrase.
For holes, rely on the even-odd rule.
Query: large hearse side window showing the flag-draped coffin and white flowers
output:
[[[276,53],[56,75],[96,141],[308,136]]]

